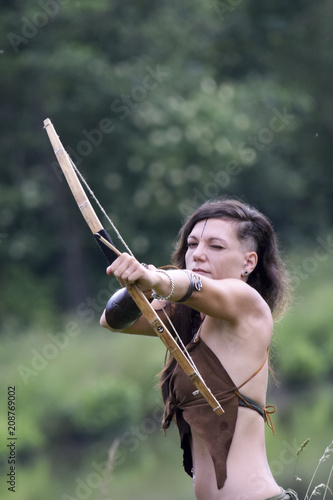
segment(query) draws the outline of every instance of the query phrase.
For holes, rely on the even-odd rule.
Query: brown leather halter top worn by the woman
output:
[[[226,464],[236,426],[239,393],[220,360],[200,337],[186,348],[225,413],[214,413],[177,364],[170,379],[170,400],[166,402],[164,419],[176,418],[184,451],[184,469],[191,477],[191,429],[204,440],[214,463],[217,487],[221,489],[227,477]]]

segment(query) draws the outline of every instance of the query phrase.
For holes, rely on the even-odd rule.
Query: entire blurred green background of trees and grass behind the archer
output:
[[[99,327],[116,283],[47,117],[142,261],[167,264],[212,197],[272,220],[294,301],[274,336],[267,451],[304,498],[333,440],[332,25],[328,0],[1,2],[1,498],[13,385],[17,500],[193,498],[177,433],[160,430],[165,349]]]

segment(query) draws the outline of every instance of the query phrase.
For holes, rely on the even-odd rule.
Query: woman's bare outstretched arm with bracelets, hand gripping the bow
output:
[[[244,315],[253,313],[254,310],[265,309],[265,303],[260,295],[238,279],[214,280],[186,270],[165,272],[153,266],[147,269],[128,254],[118,257],[108,267],[107,273],[114,275],[127,289],[136,284],[147,297],[153,293],[161,300],[181,301],[205,315],[231,323],[241,320]],[[161,309],[157,301],[152,305],[156,310]],[[107,323],[104,312],[101,324],[113,331],[154,334],[148,322],[142,317],[132,325],[119,330]]]

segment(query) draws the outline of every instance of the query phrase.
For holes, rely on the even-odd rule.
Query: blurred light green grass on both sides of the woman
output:
[[[328,500],[332,443],[326,449],[332,435],[333,402],[332,370],[324,364],[331,366],[333,353],[332,287],[323,283],[312,288],[308,281],[305,285],[304,290],[298,289],[289,316],[278,325],[280,361],[275,369],[281,387],[271,387],[267,401],[277,405],[273,415],[277,436],[267,429],[267,451],[281,486],[294,488],[304,500],[320,495]],[[77,335],[67,335],[63,348],[50,347],[55,339],[65,342],[70,321],[77,324]],[[63,331],[39,328],[3,335],[2,442],[7,437],[7,387],[17,388],[15,500],[44,500],[45,495],[49,500],[72,500],[78,498],[79,484],[87,486],[89,478],[95,486],[86,490],[86,500],[169,500],[175,484],[179,498],[193,499],[192,481],[182,469],[177,431],[173,426],[164,437],[157,419],[161,399],[155,375],[164,354],[158,339],[111,334],[98,326],[79,325],[77,318],[65,318]],[[34,373],[24,380],[20,366]],[[299,385],[300,370],[305,379]],[[297,455],[308,436],[310,442]],[[321,457],[317,465],[316,457]],[[6,471],[4,446],[0,459]],[[107,467],[111,482],[104,483],[105,475],[93,464]],[[295,480],[296,474],[301,481]],[[4,475],[0,497],[11,498],[3,479]]]

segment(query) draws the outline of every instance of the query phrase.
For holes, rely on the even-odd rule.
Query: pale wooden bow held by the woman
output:
[[[118,255],[121,254],[119,250],[114,246],[110,236],[103,228],[99,218],[97,217],[82,185],[81,182],[72,166],[72,162],[65,151],[52,123],[49,118],[44,120],[44,128],[49,136],[50,142],[53,146],[55,155],[61,167],[61,170],[68,182],[68,185],[72,191],[72,194],[81,210],[83,217],[85,218],[89,228],[94,234],[98,244],[103,250],[107,260],[111,264]],[[193,384],[210,404],[213,410],[221,415],[224,413],[223,408],[217,399],[213,396],[210,389],[206,386],[204,380],[202,379],[200,373],[195,367],[194,363],[188,359],[184,352],[180,349],[176,340],[173,338],[169,330],[166,328],[164,323],[161,321],[156,311],[150,305],[146,296],[143,292],[136,286],[132,286],[128,290],[134,302],[137,304],[141,310],[144,317],[147,319],[150,326],[153,328],[156,335],[162,340],[164,345],[169,349],[170,353],[176,359],[177,363],[182,367],[186,375],[190,377]]]

